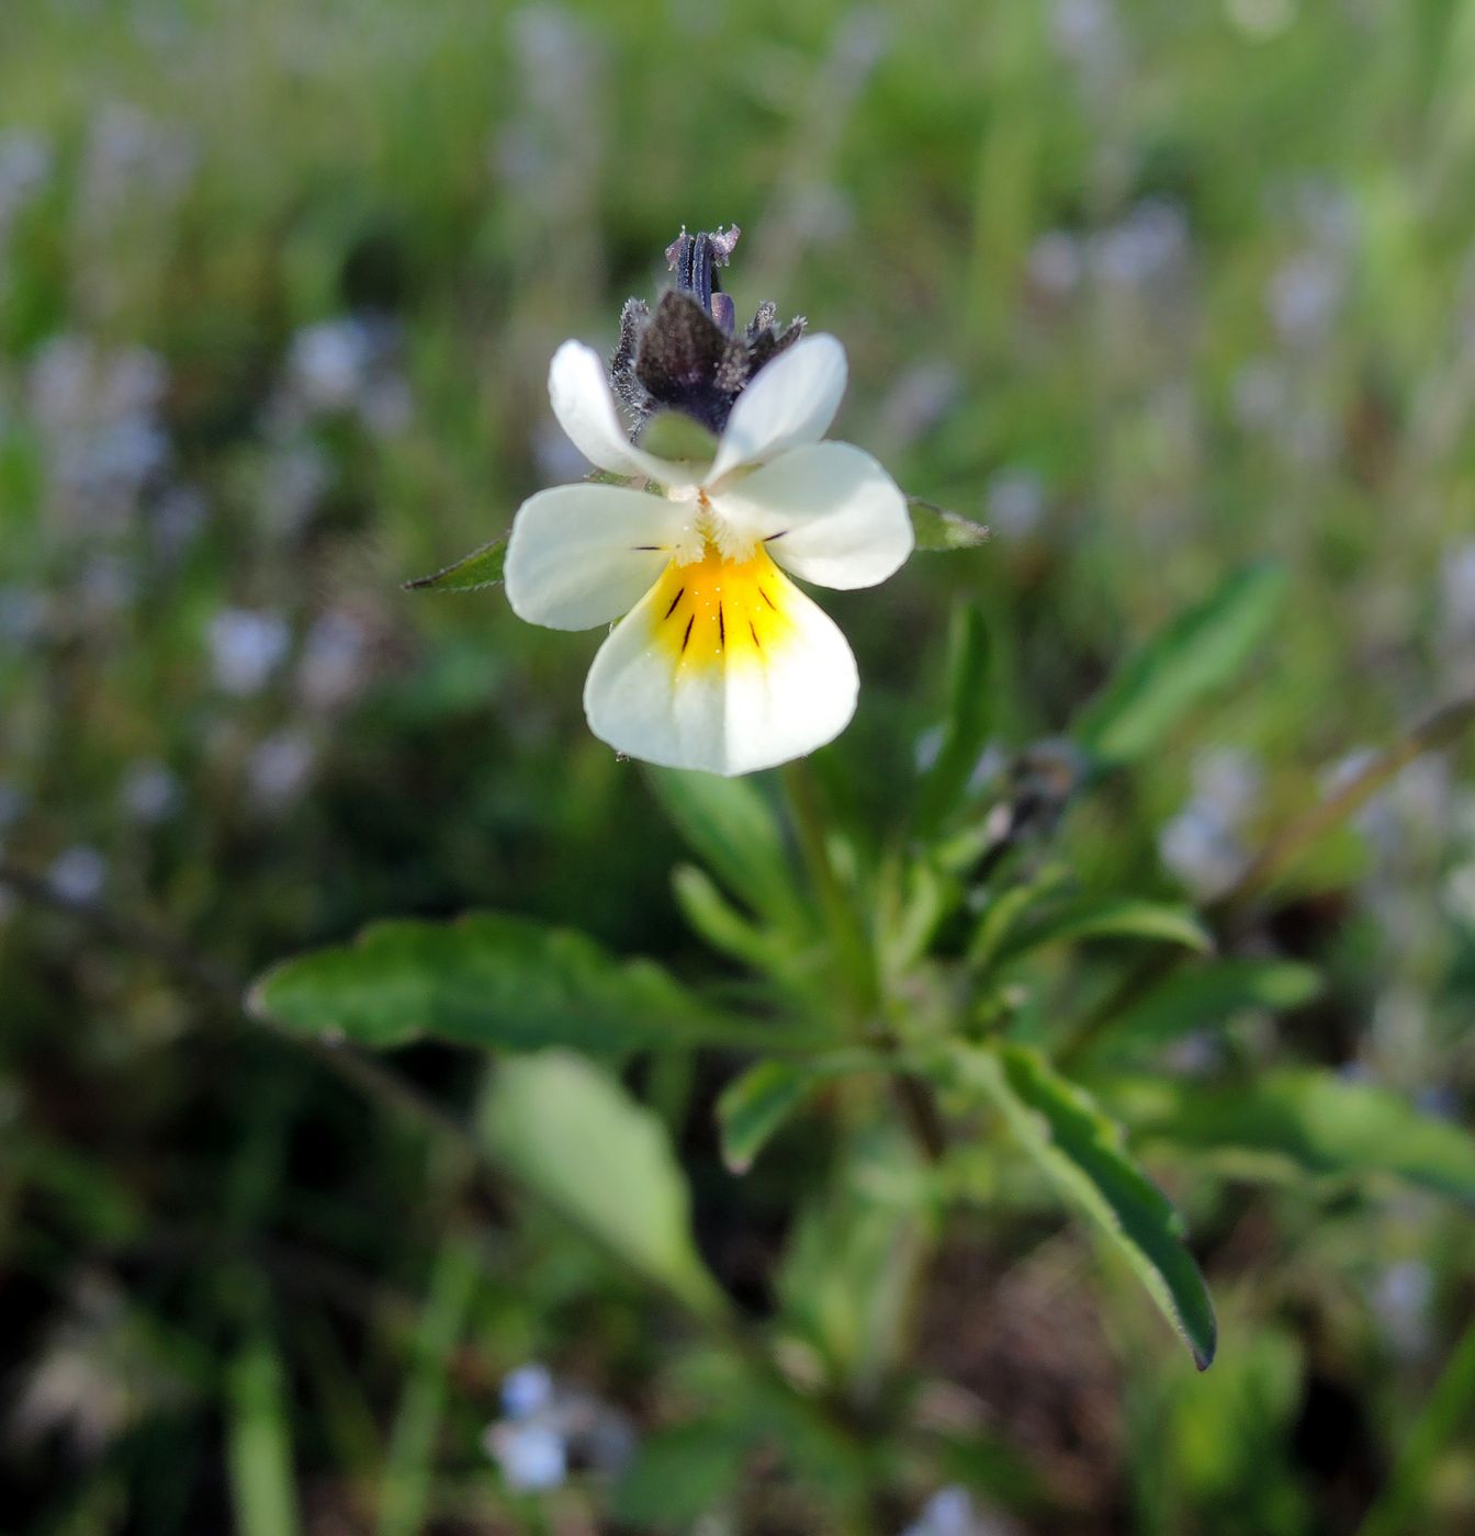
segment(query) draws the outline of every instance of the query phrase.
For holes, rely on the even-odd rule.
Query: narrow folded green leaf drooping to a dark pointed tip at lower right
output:
[[[1205,1370],[1214,1359],[1214,1306],[1183,1247],[1183,1223],[1128,1155],[1120,1127],[1028,1046],[960,1048],[963,1086],[982,1091],[1054,1181],[1126,1256]]]

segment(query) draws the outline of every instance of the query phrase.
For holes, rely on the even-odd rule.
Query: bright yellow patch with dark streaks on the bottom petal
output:
[[[656,641],[678,667],[764,662],[793,630],[790,590],[767,550],[730,561],[707,544],[701,559],[671,561],[662,573],[651,607]]]

